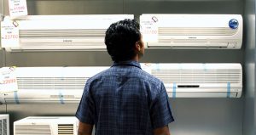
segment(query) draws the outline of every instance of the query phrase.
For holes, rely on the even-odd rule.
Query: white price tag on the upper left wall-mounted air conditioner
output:
[[[20,45],[19,27],[11,20],[5,20],[1,24],[2,48],[16,47]]]

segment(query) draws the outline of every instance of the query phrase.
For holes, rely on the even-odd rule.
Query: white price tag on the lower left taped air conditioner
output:
[[[18,90],[15,67],[0,69],[0,93],[15,92]]]

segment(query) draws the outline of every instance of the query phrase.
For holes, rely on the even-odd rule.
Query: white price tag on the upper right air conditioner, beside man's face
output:
[[[158,42],[158,19],[154,16],[147,16],[141,20],[144,42]]]

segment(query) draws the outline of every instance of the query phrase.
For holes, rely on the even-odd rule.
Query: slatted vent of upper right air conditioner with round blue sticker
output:
[[[159,36],[232,36],[237,30],[230,27],[159,27]]]

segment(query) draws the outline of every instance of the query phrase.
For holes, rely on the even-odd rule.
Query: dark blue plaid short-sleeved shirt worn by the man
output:
[[[76,116],[95,124],[96,135],[152,135],[174,121],[163,82],[135,61],[114,63],[91,77]]]

